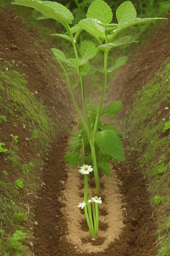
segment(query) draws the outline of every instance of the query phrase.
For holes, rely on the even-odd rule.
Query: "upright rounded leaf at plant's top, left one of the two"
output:
[[[108,4],[101,0],[94,1],[87,11],[87,18],[100,20],[101,23],[110,23],[112,21],[112,9]]]

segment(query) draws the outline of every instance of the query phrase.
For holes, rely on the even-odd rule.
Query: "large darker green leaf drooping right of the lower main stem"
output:
[[[95,142],[104,154],[111,155],[118,161],[125,162],[124,148],[120,138],[112,130],[98,131]]]

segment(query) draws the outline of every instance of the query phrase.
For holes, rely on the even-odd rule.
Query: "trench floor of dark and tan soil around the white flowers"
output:
[[[31,251],[37,256],[154,254],[156,225],[146,180],[135,164],[137,155],[129,155],[126,163],[113,163],[111,177],[101,177],[99,233],[91,240],[83,211],[78,208],[83,201],[83,179],[63,161],[66,146],[67,138],[62,135],[53,143],[40,174],[43,183],[36,202],[38,224],[33,226]],[[94,180],[90,187],[95,193]]]

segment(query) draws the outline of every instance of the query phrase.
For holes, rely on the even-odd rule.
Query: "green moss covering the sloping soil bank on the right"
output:
[[[170,101],[169,69],[170,61],[167,60],[154,79],[133,94],[133,111],[125,121],[129,148],[142,149],[137,161],[148,176],[148,191],[152,199],[155,196],[162,199],[158,205],[151,200],[159,221],[158,256],[170,254],[170,134],[169,129],[162,132],[170,115],[165,109]]]

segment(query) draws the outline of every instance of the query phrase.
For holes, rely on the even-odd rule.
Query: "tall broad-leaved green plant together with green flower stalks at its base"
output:
[[[110,105],[103,108],[105,90],[108,87],[108,73],[111,73],[121,65],[124,65],[127,60],[125,56],[122,56],[116,61],[115,65],[108,67],[108,54],[114,47],[126,46],[134,42],[129,35],[120,35],[121,31],[124,31],[126,28],[133,25],[153,22],[159,18],[137,18],[133,3],[125,1],[116,10],[118,23],[111,23],[113,18],[111,8],[104,1],[95,0],[87,10],[87,18],[80,20],[78,24],[70,27],[69,24],[71,24],[74,19],[73,14],[65,6],[59,3],[16,0],[12,4],[33,7],[43,14],[40,19],[53,18],[61,23],[66,30],[65,34],[53,35],[66,39],[71,43],[74,57],[67,59],[65,53],[56,48],[52,48],[52,52],[65,73],[71,97],[73,98],[75,108],[79,115],[80,124],[79,131],[77,133],[72,133],[75,138],[74,142],[69,144],[74,151],[66,154],[65,160],[66,162],[69,162],[69,165],[83,165],[84,171],[86,171],[85,168],[88,168],[86,166],[93,166],[96,187],[100,192],[99,173],[103,171],[107,176],[111,174],[111,167],[108,162],[112,159],[125,162],[124,149],[121,144],[122,133],[116,129],[116,127],[102,123],[100,120],[104,114],[107,114],[110,118],[114,118],[117,112],[122,109],[121,101],[112,102]],[[91,40],[78,41],[78,37],[83,30],[91,36]],[[118,35],[120,35],[120,37],[118,37]],[[78,42],[80,42],[80,45]],[[91,64],[90,61],[97,56],[99,52],[103,55],[103,65]],[[82,94],[83,115],[78,108],[73,93],[74,82],[71,81],[68,75],[70,68],[76,73],[76,76],[78,76],[79,79]],[[88,102],[86,94],[88,88],[84,77],[90,71],[94,70],[101,72],[104,81],[103,85],[101,85],[101,98],[99,104]],[[35,130],[33,138],[36,138],[37,134],[39,134],[39,130]],[[96,225],[93,227],[91,210],[86,211],[86,204],[88,209],[89,202],[87,201],[87,178],[85,180],[85,176],[86,175],[84,175],[84,209],[85,213],[88,211],[86,214],[87,223],[89,224],[89,221],[91,222],[91,225],[88,226],[91,235],[95,237],[98,229],[96,221],[97,208],[95,207],[94,210],[93,207],[93,212],[96,213],[94,214],[96,217],[94,223],[96,223]]]

